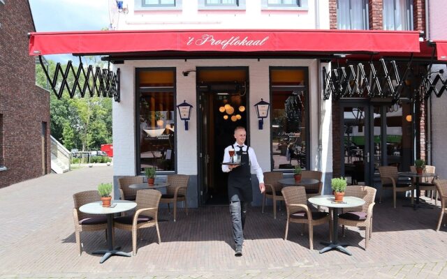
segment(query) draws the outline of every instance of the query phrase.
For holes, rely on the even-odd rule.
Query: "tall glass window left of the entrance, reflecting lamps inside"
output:
[[[137,70],[138,167],[175,171],[175,69]]]

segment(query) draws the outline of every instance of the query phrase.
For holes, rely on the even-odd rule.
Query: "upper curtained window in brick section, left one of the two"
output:
[[[368,28],[368,3],[366,0],[338,0],[337,28],[366,30]]]

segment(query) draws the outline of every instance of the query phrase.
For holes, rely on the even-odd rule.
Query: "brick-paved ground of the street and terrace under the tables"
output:
[[[0,189],[0,278],[447,278],[447,228],[434,231],[435,209],[397,209],[385,199],[374,207],[372,239],[365,251],[365,231],[349,227],[343,241],[352,256],[319,254],[328,226],[314,229],[309,250],[307,229],[292,224],[284,237],[284,206],[277,220],[249,210],[244,256],[234,257],[228,206],[182,209],[177,222],[162,209],[161,243],[154,229],[143,229],[135,257],[111,257],[99,264],[94,250],[105,246],[103,232],[83,232],[78,255],[73,227],[73,193],[112,181],[112,167],[50,174]],[[342,236],[339,236],[342,239]],[[115,230],[115,243],[131,252],[131,233]]]

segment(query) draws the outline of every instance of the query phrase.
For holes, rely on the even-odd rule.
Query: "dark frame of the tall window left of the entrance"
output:
[[[177,68],[175,67],[148,67],[148,68],[135,68],[135,114],[133,115],[135,123],[139,123],[140,121],[140,93],[141,92],[148,92],[151,91],[151,89],[140,89],[138,84],[140,84],[140,72],[147,72],[147,71],[159,71],[159,70],[171,70],[173,71],[174,76],[174,82],[173,82],[173,89],[172,91],[166,90],[166,89],[153,89],[152,91],[166,91],[166,92],[172,92],[173,93],[173,101],[174,101],[174,126],[177,129]],[[163,88],[163,87],[162,87]],[[144,175],[144,172],[141,171],[141,162],[140,162],[140,126],[135,125],[135,172],[136,175]],[[178,171],[178,158],[177,158],[177,135],[175,135],[174,138],[174,169],[170,171],[166,170],[157,170],[157,175],[168,175],[168,174],[177,174]]]

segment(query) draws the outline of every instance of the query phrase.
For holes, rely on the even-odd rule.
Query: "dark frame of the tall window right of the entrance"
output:
[[[312,151],[312,142],[310,141],[310,96],[309,96],[309,67],[305,66],[270,66],[269,67],[269,96],[270,96],[270,169],[272,172],[284,172],[284,173],[293,173],[293,169],[274,169],[274,163],[273,163],[273,131],[272,131],[272,123],[273,123],[273,90],[272,90],[272,70],[303,70],[305,77],[305,117],[306,117],[306,123],[305,123],[305,129],[306,129],[306,135],[305,135],[305,145],[306,145],[306,165],[305,169],[309,169],[310,166],[310,159],[311,159],[311,151]],[[284,91],[290,90],[286,87],[283,87]],[[282,91],[281,90],[281,91]]]

